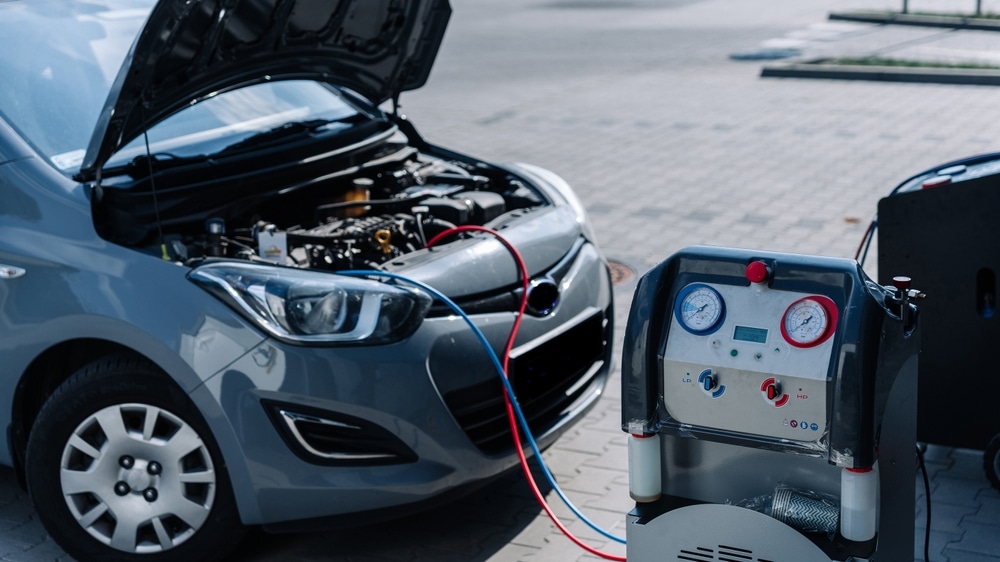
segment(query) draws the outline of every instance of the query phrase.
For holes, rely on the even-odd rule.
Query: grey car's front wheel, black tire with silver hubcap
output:
[[[139,358],[95,361],[59,386],[25,472],[45,529],[80,561],[218,560],[244,533],[208,426]]]

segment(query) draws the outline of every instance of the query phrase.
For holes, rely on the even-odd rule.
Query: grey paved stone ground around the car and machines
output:
[[[550,168],[577,189],[606,254],[642,273],[691,244],[852,257],[899,181],[1000,149],[1000,90],[761,79],[729,55],[798,39],[836,49],[826,14],[899,0],[452,0],[424,89],[404,110],[428,138],[497,161]],[[983,2],[997,11],[1000,2]],[[912,0],[971,10],[974,0]],[[843,28],[840,28],[842,31]],[[858,27],[849,36],[895,29]],[[904,33],[905,34],[905,33]],[[958,40],[959,34],[955,34]],[[876,275],[873,260],[865,264]],[[634,279],[618,287],[621,349]],[[617,373],[617,368],[616,368]],[[545,453],[589,517],[624,534],[625,436],[617,374],[590,415]],[[980,451],[931,446],[930,560],[1000,561],[1000,492]],[[923,487],[918,485],[917,560]],[[555,500],[554,494],[548,494]],[[588,543],[610,543],[556,508]],[[220,538],[220,540],[224,540]],[[65,560],[0,470],[0,561]],[[376,527],[255,534],[233,560],[586,561],[519,476],[454,505]]]

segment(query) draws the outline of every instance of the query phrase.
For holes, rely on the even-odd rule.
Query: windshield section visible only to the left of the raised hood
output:
[[[0,2],[0,115],[57,167],[79,168],[79,151],[153,4]]]

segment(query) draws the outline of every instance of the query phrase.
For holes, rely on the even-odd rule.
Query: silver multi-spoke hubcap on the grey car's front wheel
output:
[[[216,474],[201,436],[147,404],[104,408],[63,447],[60,484],[91,536],[129,553],[171,549],[204,525]]]

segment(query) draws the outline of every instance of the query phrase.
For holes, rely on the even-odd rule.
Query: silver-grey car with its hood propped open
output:
[[[447,300],[497,354],[527,300],[509,375],[543,447],[599,398],[612,292],[580,201],[395,109],[450,11],[0,2],[0,464],[70,555],[218,559],[246,526],[398,516],[513,468]]]

